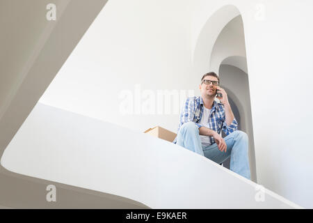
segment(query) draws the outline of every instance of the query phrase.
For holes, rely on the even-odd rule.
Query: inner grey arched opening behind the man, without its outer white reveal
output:
[[[246,45],[241,15],[228,22],[218,35],[211,52],[210,70],[218,72],[221,85],[230,96],[234,115],[237,119],[240,117],[237,120],[239,130],[248,134],[251,179],[256,182]],[[229,160],[226,160],[224,167],[229,167]]]

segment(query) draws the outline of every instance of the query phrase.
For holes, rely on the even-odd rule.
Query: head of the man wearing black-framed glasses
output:
[[[201,78],[199,85],[202,98],[211,98],[216,95],[216,88],[220,85],[220,79],[215,72],[208,72]]]

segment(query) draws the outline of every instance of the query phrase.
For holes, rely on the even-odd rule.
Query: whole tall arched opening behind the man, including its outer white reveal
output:
[[[238,8],[223,6],[209,17],[195,43],[193,66],[197,74],[214,71],[220,76],[239,130],[248,134],[251,180],[257,182],[246,45]],[[227,160],[224,167],[229,167]]]

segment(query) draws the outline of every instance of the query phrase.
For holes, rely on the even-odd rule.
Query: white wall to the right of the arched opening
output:
[[[212,8],[211,1],[200,2],[201,10],[195,10],[195,33],[201,33],[204,14]],[[220,1],[220,7],[225,3],[237,6],[243,17],[257,181],[312,208],[313,152],[307,139],[312,137],[313,122],[313,107],[308,102],[313,94],[313,32],[308,28],[313,3]],[[293,84],[292,79],[300,84]]]

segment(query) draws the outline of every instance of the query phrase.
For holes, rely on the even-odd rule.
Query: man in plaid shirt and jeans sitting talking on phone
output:
[[[173,143],[217,163],[230,157],[230,170],[250,179],[248,136],[237,130],[227,93],[219,85],[215,72],[203,75],[199,85],[201,96],[187,98]],[[220,97],[216,93],[221,93]],[[220,130],[225,132],[225,139],[220,136]]]

